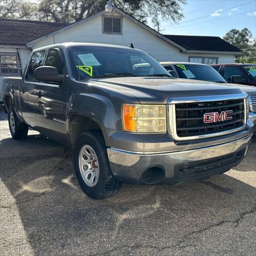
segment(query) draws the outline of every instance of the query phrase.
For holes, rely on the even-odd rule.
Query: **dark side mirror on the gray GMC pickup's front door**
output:
[[[63,76],[58,74],[57,68],[50,66],[38,67],[34,70],[34,78],[37,81],[61,83]]]

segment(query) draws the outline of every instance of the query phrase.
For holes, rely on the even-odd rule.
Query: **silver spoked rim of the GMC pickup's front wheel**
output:
[[[79,170],[85,184],[94,187],[99,179],[99,161],[93,148],[84,145],[79,152]]]

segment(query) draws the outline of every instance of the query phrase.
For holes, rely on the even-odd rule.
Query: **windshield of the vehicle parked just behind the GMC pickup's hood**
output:
[[[210,66],[185,64],[175,65],[180,78],[203,80],[215,83],[227,83],[225,79]]]

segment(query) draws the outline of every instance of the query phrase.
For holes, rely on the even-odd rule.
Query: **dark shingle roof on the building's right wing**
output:
[[[183,36],[163,35],[171,41],[183,46],[187,50],[241,52],[237,47],[229,44],[218,36]]]

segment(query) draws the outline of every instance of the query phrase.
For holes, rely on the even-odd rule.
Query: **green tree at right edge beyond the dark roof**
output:
[[[231,29],[228,33],[223,36],[223,40],[236,46],[242,51],[242,55],[237,55],[236,62],[254,62],[255,57],[255,39],[254,42],[250,41],[252,33],[249,29],[243,28],[241,30]]]

